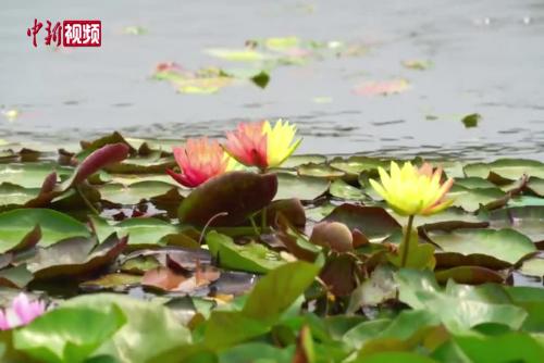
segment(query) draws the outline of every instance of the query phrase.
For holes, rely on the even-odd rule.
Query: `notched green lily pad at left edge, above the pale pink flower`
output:
[[[51,246],[61,239],[90,235],[85,224],[53,210],[13,210],[0,213],[1,251],[17,246],[36,225],[41,229],[39,245],[42,247]]]

